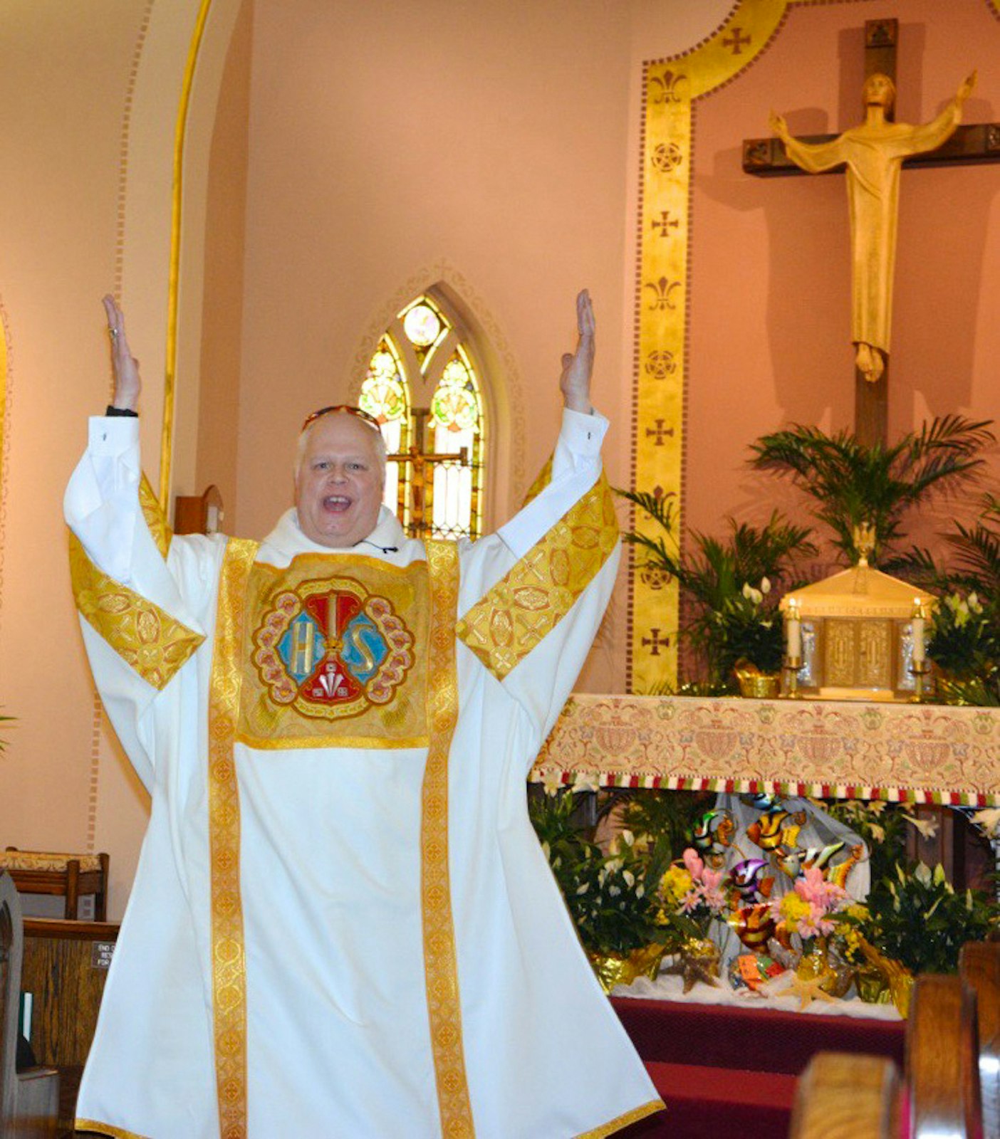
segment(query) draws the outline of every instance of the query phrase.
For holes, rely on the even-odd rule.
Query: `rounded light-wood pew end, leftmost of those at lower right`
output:
[[[884,1056],[817,1052],[798,1079],[789,1139],[896,1139],[900,1077]]]

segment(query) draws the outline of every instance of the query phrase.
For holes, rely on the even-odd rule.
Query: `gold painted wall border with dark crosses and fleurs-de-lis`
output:
[[[790,8],[826,2],[741,0],[697,47],[644,66],[631,474],[632,486],[672,499],[678,526],[683,506],[694,104],[753,64]],[[637,516],[634,525],[658,536],[647,516]],[[649,693],[677,682],[679,601],[677,582],[650,573],[631,575],[629,691]]]

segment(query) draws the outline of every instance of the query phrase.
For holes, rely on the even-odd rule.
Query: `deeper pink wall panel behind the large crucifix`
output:
[[[900,18],[897,120],[932,118],[973,67],[966,122],[1000,117],[1000,19],[983,0],[793,8],[767,52],[698,105],[685,499],[697,528],[718,531],[727,511],[795,507],[747,470],[753,439],[789,423],[853,424],[843,175],[752,178],[740,141],[770,133],[771,108],[797,134],[860,122],[862,27],[883,16]],[[903,172],[891,439],[949,411],[1000,420],[998,195],[997,165]]]

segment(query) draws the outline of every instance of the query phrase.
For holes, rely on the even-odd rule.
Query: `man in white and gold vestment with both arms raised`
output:
[[[171,535],[105,305],[114,401],[66,517],[151,813],[77,1128],[569,1139],[659,1109],[525,796],[617,565],[588,295],[548,482],[457,544],[405,536],[377,426],[345,408],[306,421],[295,508],[263,542]]]

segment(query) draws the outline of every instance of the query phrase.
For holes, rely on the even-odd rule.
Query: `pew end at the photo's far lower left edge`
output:
[[[51,1139],[59,1108],[59,1075],[34,1066],[17,1071],[24,927],[9,874],[0,872],[0,1136]]]

